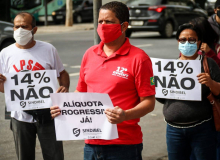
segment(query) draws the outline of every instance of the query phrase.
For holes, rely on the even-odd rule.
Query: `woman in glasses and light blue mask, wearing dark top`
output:
[[[197,77],[202,85],[202,101],[157,99],[164,104],[168,157],[169,160],[189,160],[193,152],[197,160],[215,160],[216,131],[207,96],[212,92],[220,98],[220,69],[213,59],[207,58],[211,75],[204,73],[204,58],[198,54],[202,42],[198,28],[184,24],[179,27],[176,39],[181,52],[179,60],[201,61],[202,73]]]

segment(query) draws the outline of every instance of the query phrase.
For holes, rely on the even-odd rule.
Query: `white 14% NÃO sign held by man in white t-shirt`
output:
[[[50,93],[58,88],[55,70],[39,70],[5,74],[7,111],[33,110],[52,106]]]

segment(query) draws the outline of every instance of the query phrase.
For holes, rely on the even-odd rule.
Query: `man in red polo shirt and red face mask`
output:
[[[140,117],[153,111],[155,86],[151,60],[130,44],[125,31],[129,11],[121,2],[103,5],[97,32],[99,45],[89,48],[82,60],[77,92],[108,93],[113,109],[106,109],[108,121],[117,124],[119,138],[85,140],[84,160],[142,160]],[[60,114],[51,107],[52,117]]]

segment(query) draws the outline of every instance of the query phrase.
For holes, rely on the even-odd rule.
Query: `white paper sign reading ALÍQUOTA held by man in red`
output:
[[[108,94],[54,93],[51,99],[61,109],[55,118],[58,141],[118,138],[116,124],[109,123],[104,113],[113,108]]]

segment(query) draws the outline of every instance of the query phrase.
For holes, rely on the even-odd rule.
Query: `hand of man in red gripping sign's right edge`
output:
[[[121,123],[126,119],[125,111],[118,106],[114,108],[107,108],[105,110],[105,114],[108,118],[108,121],[112,124]]]

